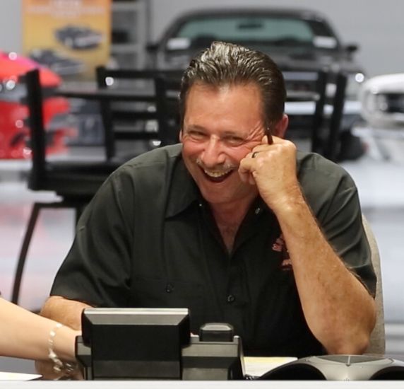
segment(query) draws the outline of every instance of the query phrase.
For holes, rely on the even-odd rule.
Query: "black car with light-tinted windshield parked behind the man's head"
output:
[[[342,122],[346,133],[341,139],[351,143],[347,146],[356,141],[350,129],[360,120],[357,91],[364,81],[362,66],[353,58],[357,45],[343,45],[321,13],[292,8],[203,9],[184,13],[171,23],[157,43],[148,45],[148,66],[184,69],[191,57],[213,40],[238,43],[271,55],[283,71],[289,93],[314,91],[314,75],[327,69],[331,76],[326,91],[331,100],[335,93],[333,75],[344,71],[348,75]],[[331,105],[326,105],[326,112],[331,109]],[[307,134],[314,104],[287,103],[286,110],[290,128],[305,127]],[[355,150],[348,152],[347,146],[344,146],[346,158],[362,154],[357,142]]]

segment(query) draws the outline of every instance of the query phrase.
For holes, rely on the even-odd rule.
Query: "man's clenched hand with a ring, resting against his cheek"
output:
[[[263,137],[261,144],[240,161],[239,175],[243,182],[256,185],[262,199],[271,209],[285,203],[299,190],[296,173],[296,146],[291,141]]]

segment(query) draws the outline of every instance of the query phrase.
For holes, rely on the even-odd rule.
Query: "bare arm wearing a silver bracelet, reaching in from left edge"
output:
[[[0,298],[0,354],[25,359],[49,359],[49,337],[57,322]],[[54,352],[64,361],[74,360],[74,343],[80,332],[60,327],[54,335]]]

